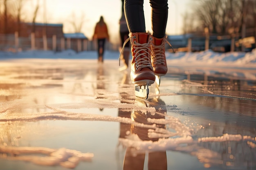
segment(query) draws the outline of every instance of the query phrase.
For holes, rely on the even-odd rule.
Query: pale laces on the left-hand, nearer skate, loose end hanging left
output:
[[[132,39],[132,37],[129,37],[128,39],[126,39],[126,41],[124,41],[123,48],[122,48],[122,50],[120,52],[120,55],[119,55],[119,66],[120,66],[121,54],[124,51],[124,47],[125,47],[126,43],[130,39]],[[134,53],[135,53],[135,64],[136,64],[135,67],[136,67],[136,70],[138,70],[139,68],[151,68],[153,70],[153,67],[151,65],[151,61],[148,60],[148,56],[150,56],[150,52],[151,52],[150,42],[148,41],[148,43],[139,44],[139,43],[134,41],[134,42],[132,42],[132,46],[134,48]]]

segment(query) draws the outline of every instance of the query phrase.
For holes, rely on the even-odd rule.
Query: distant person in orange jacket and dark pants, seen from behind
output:
[[[97,22],[95,26],[93,39],[97,39],[98,61],[102,63],[105,50],[105,41],[109,41],[108,27],[104,22],[103,16],[100,17],[99,22]]]

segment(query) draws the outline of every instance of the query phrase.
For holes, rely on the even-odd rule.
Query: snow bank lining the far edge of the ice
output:
[[[79,34],[80,35],[80,34]],[[96,51],[75,52],[65,50],[63,52],[53,51],[22,51],[22,52],[0,52],[0,59],[97,59]],[[118,59],[119,52],[106,51],[104,59]],[[256,49],[252,52],[213,52],[211,50],[202,52],[166,52],[166,59],[171,63],[179,65],[212,65],[237,68],[255,68]]]

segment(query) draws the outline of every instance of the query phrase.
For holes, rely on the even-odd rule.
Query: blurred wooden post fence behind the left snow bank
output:
[[[106,50],[118,50],[117,44],[112,44],[106,41]],[[74,50],[76,52],[97,50],[97,42],[88,39],[73,39],[73,38],[57,38],[53,35],[51,38],[43,36],[35,37],[31,33],[29,37],[19,37],[15,34],[0,34],[0,50],[1,51],[24,51],[24,50]]]

